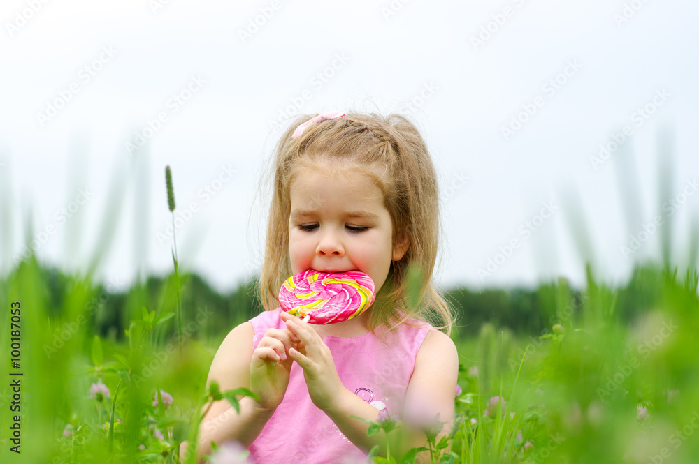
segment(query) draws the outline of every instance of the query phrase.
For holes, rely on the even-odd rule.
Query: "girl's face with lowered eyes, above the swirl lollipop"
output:
[[[405,239],[392,243],[391,215],[380,188],[359,170],[329,177],[319,168],[298,172],[290,195],[291,271],[362,271],[378,292],[391,260],[408,249]]]

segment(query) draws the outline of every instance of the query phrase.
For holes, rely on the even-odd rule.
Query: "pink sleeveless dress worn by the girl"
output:
[[[253,317],[253,349],[267,329],[285,329],[281,309],[265,311]],[[415,367],[415,357],[429,329],[425,322],[412,320],[421,327],[401,324],[387,337],[387,345],[371,332],[353,338],[326,336],[323,341],[343,385],[378,410],[388,407],[399,414],[405,391]],[[354,446],[339,428],[310,399],[303,369],[294,362],[284,400],[266,426],[250,445],[254,464],[361,463],[366,454]]]

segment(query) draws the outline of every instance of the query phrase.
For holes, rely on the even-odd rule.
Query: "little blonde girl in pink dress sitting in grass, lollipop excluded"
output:
[[[361,462],[385,435],[368,424],[397,417],[398,457],[426,446],[417,424],[454,419],[458,354],[451,310],[431,283],[438,248],[438,189],[417,129],[398,115],[300,117],[275,149],[261,301],[265,311],[233,329],[207,382],[247,387],[240,414],[226,400],[203,418],[197,454],[236,441],[254,464]],[[410,292],[408,265],[425,278]],[[287,277],[307,269],[362,271],[376,297],[357,317],[314,325],[279,308]],[[412,282],[412,279],[411,279]],[[447,334],[438,331],[433,322]],[[205,405],[207,407],[207,405]],[[180,447],[184,458],[186,442]],[[424,453],[419,454],[419,456]]]

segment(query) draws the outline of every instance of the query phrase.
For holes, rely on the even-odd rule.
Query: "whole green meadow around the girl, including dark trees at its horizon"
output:
[[[254,280],[220,295],[175,256],[168,276],[120,291],[33,253],[1,278],[0,463],[192,462],[179,446],[201,406],[249,394],[205,383],[224,336],[261,307]],[[696,261],[637,265],[617,285],[586,275],[579,289],[559,278],[445,291],[460,314],[459,388],[454,426],[426,450],[433,463],[697,462]],[[370,433],[401,433],[380,419]],[[210,462],[248,461],[226,446]]]

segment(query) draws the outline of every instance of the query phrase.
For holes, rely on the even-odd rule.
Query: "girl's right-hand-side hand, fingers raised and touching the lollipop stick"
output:
[[[313,404],[321,410],[331,410],[336,406],[336,401],[342,398],[345,386],[338,375],[330,348],[310,324],[284,311],[282,320],[291,334],[301,340],[295,349],[289,349],[289,356],[303,368],[303,377]]]

